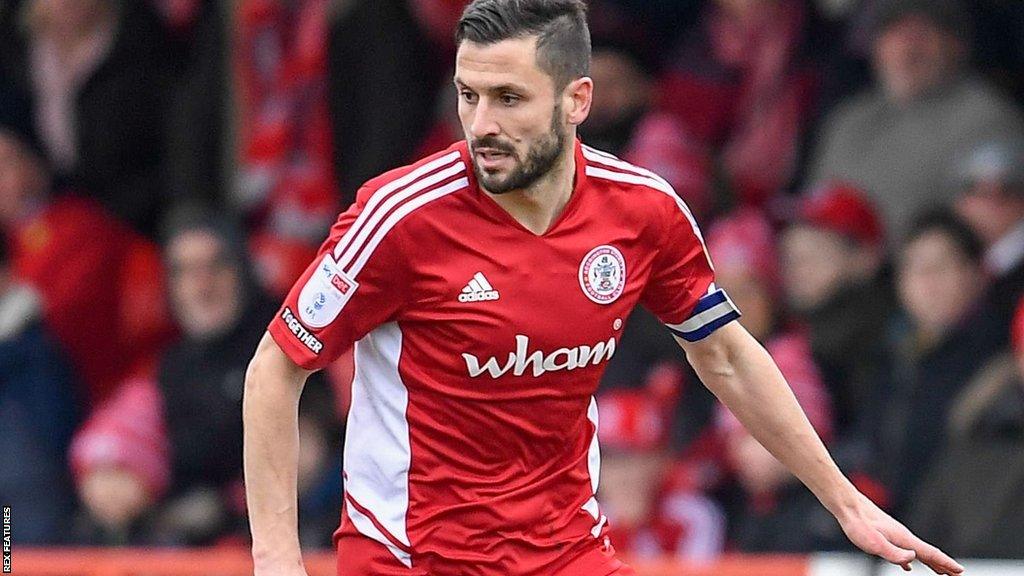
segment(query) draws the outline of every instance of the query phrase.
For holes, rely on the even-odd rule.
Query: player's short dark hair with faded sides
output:
[[[537,36],[541,70],[559,89],[590,73],[590,29],[583,0],[473,0],[456,27],[463,40],[496,44]]]

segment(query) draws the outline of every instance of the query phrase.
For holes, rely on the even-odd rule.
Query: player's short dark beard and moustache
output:
[[[490,194],[508,194],[515,190],[524,190],[532,186],[542,176],[547,174],[558,163],[558,159],[565,151],[567,135],[565,129],[558,123],[561,118],[561,106],[556,106],[554,114],[551,116],[551,130],[537,140],[526,151],[526,157],[520,159],[512,145],[504,142],[495,136],[483,136],[473,140],[470,150],[478,148],[490,148],[508,154],[514,161],[514,167],[505,175],[497,172],[486,172],[480,169],[476,163],[476,155],[473,158],[473,171],[476,173],[476,181]]]

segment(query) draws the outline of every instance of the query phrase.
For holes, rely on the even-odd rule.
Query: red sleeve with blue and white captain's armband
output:
[[[700,230],[686,205],[674,200],[640,301],[675,335],[694,342],[739,318],[739,311],[715,286]]]

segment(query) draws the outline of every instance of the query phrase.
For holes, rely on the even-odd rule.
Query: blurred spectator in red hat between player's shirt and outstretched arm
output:
[[[681,371],[662,364],[641,387],[601,393],[598,499],[611,544],[632,558],[706,562],[725,546],[721,507],[701,493],[713,479],[676,461],[669,441]]]

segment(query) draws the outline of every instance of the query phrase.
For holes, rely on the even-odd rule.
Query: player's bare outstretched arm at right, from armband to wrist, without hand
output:
[[[825,450],[771,356],[735,323],[719,332],[728,345],[701,351],[699,358],[687,349],[700,380],[829,511],[839,516],[854,505],[859,493]]]

